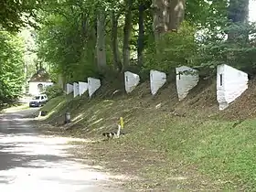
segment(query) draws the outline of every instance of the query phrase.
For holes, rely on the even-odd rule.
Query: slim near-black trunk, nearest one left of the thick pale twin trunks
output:
[[[138,36],[138,66],[143,66],[143,50],[144,50],[144,4],[141,2],[139,5],[139,36]]]

